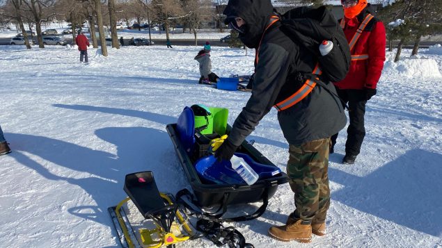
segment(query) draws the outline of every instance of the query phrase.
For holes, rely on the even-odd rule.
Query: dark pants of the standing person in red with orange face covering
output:
[[[361,145],[365,137],[364,115],[365,115],[365,91],[364,90],[339,90],[336,88],[342,101],[348,103],[350,124],[347,129],[347,142],[345,142],[345,154],[358,155],[361,152]],[[331,144],[336,144],[338,133],[331,136]]]

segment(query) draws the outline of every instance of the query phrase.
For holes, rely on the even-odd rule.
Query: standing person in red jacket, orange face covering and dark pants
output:
[[[347,76],[334,83],[339,97],[349,105],[350,124],[342,163],[354,164],[365,137],[365,104],[376,94],[385,61],[386,33],[382,22],[374,17],[367,0],[341,0],[344,15],[340,20],[352,53]],[[359,30],[359,31],[358,31]],[[331,137],[333,153],[338,133]]]

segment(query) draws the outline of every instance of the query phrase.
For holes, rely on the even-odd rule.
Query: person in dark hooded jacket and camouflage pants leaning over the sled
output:
[[[218,160],[230,160],[272,106],[293,101],[306,83],[303,76],[314,71],[317,57],[281,31],[270,0],[230,0],[223,14],[226,24],[239,31],[242,42],[256,51],[251,97],[215,152]],[[279,124],[290,144],[287,176],[296,206],[286,225],[269,229],[269,235],[278,240],[310,242],[312,233],[325,234],[330,137],[344,128],[346,117],[339,99],[333,96],[333,84],[324,83],[327,89],[316,85],[296,104],[277,108]]]

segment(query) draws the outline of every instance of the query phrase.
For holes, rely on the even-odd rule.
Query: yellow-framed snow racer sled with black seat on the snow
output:
[[[194,236],[187,215],[173,203],[173,196],[158,191],[152,172],[127,174],[124,190],[129,197],[109,208],[122,247],[175,247],[177,242]],[[155,228],[140,228],[136,234],[123,208],[129,201]]]

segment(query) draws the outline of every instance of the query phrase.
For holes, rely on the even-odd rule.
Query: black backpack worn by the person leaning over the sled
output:
[[[345,78],[352,60],[349,44],[340,24],[325,6],[294,8],[281,15],[281,23],[285,35],[317,57],[324,76],[333,82]],[[324,40],[333,42],[333,49],[326,56],[319,53],[319,44]]]

